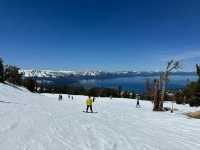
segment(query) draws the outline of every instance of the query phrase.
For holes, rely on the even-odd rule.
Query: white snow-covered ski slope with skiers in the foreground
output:
[[[33,94],[0,84],[0,150],[199,150],[200,120],[152,112],[152,104],[97,98],[83,113],[84,96]],[[168,104],[165,104],[168,105]]]

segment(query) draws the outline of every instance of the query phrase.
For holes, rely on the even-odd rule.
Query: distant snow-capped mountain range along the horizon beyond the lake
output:
[[[20,70],[24,77],[38,77],[38,78],[114,78],[114,77],[128,77],[128,76],[152,76],[159,75],[158,71],[137,72],[137,71],[68,71],[68,70]],[[191,75],[193,72],[174,72],[178,75]]]

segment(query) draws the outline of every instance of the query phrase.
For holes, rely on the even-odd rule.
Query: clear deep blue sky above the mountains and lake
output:
[[[199,0],[0,0],[0,56],[21,68],[159,70],[200,63]]]

